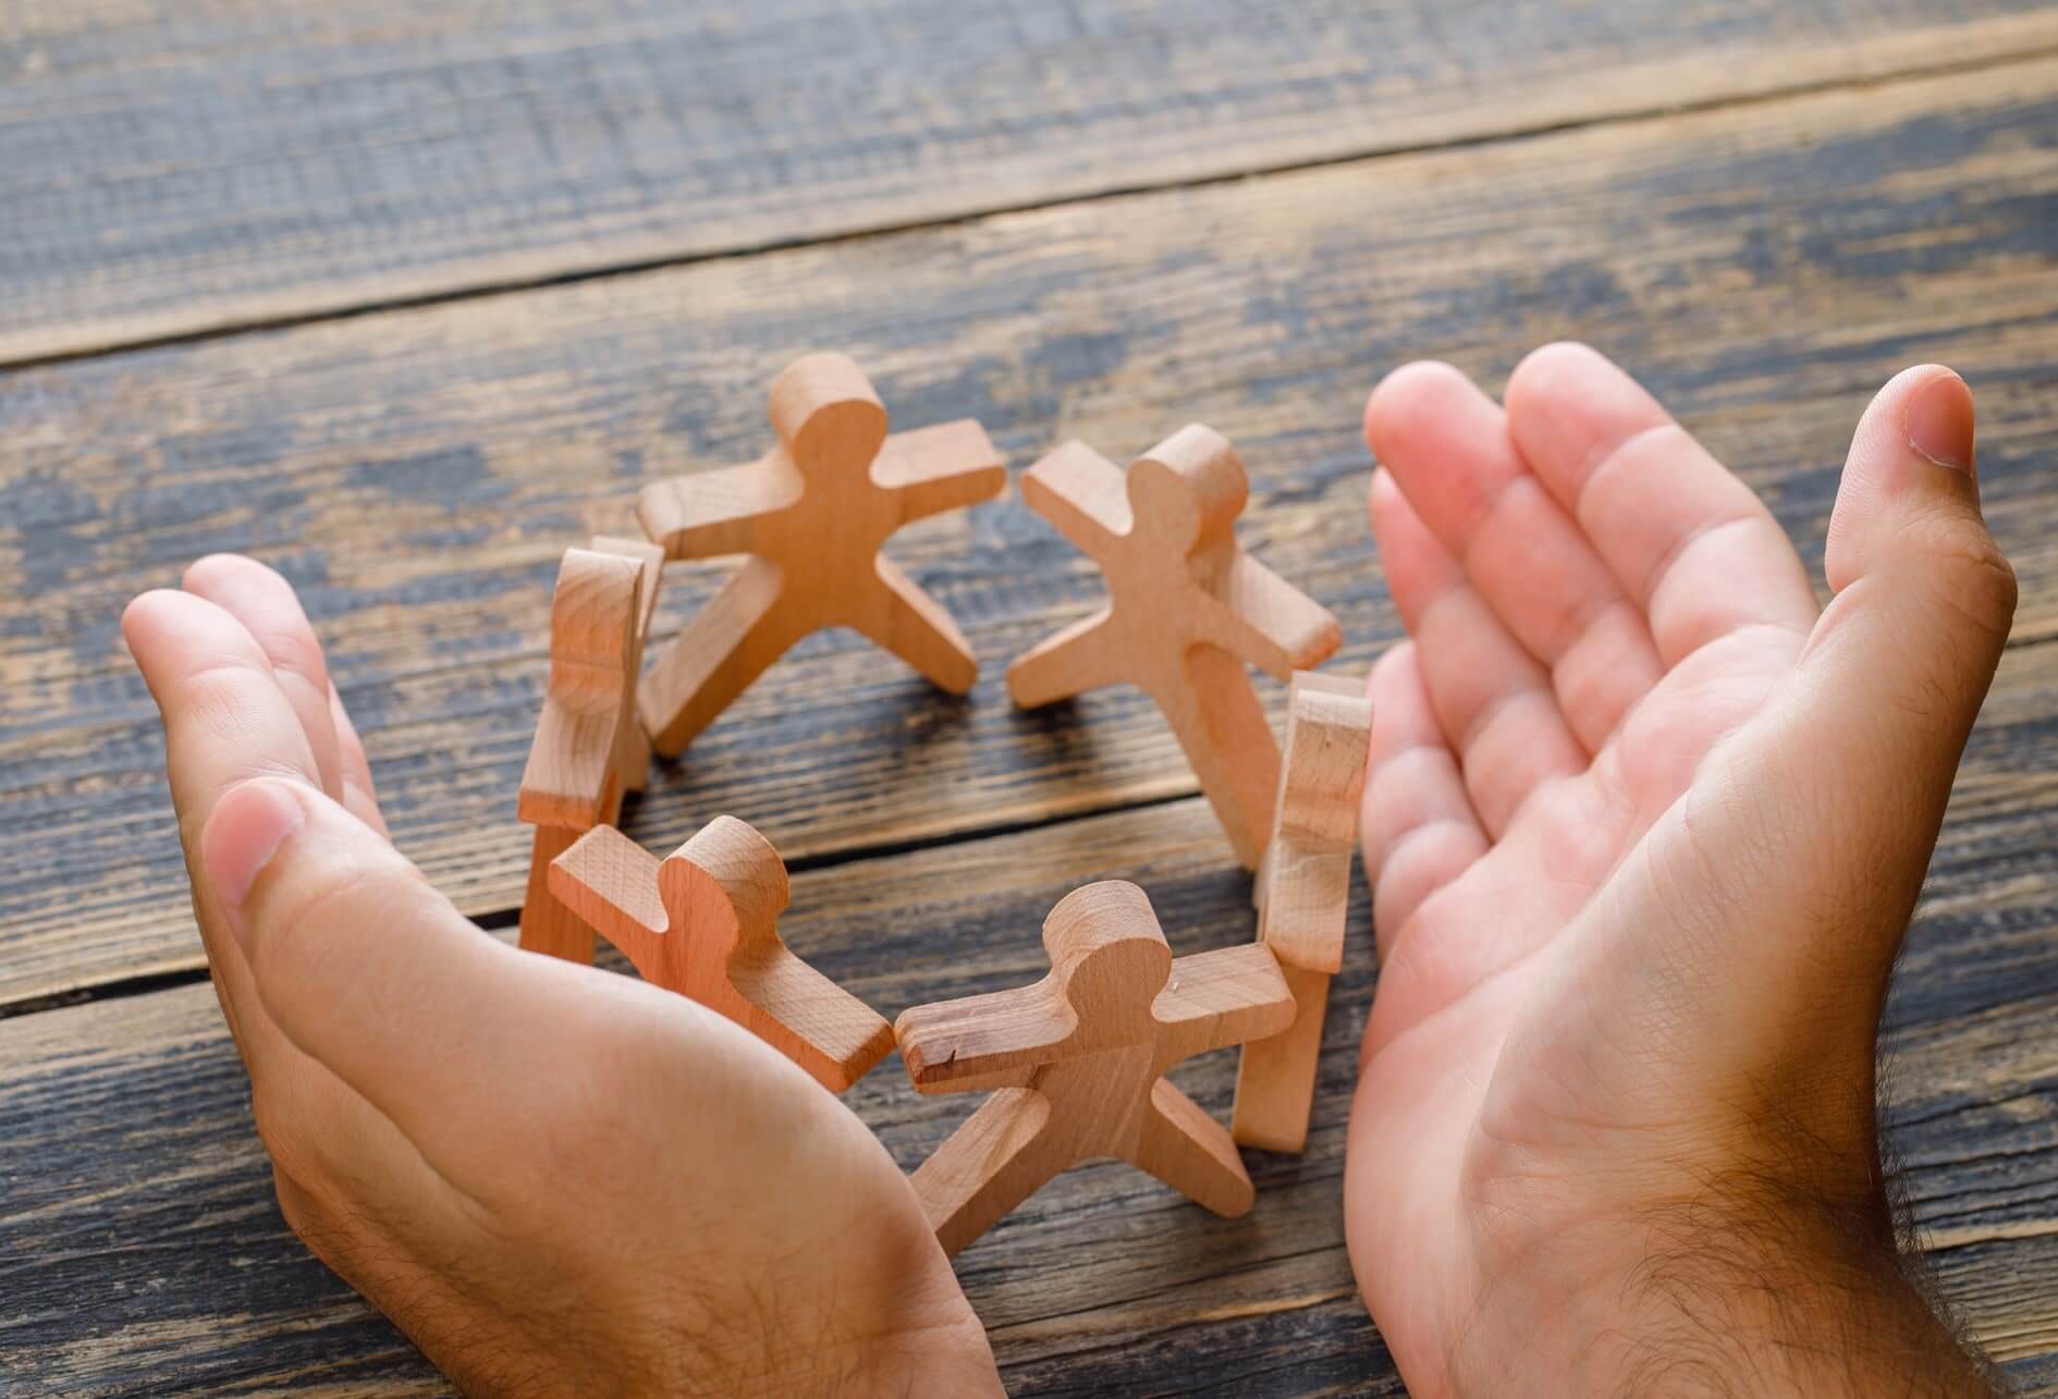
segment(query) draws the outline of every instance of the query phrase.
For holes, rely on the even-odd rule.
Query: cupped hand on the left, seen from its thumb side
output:
[[[480,932],[393,850],[292,588],[245,558],[123,636],[280,1210],[482,1393],[998,1393],[879,1140],[669,992]]]

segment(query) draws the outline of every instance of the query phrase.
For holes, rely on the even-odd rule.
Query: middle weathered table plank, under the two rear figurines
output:
[[[115,619],[206,549],[303,584],[401,846],[467,911],[512,907],[558,551],[626,527],[644,479],[759,451],[764,385],[811,344],[856,352],[903,424],[980,416],[1017,465],[1206,416],[1253,471],[1245,541],[1342,615],[1358,669],[1393,636],[1356,432],[1381,368],[1441,352],[1492,376],[1591,337],[1819,560],[1867,397],[1943,358],[1980,389],[2017,636],[2058,636],[2054,93],[2058,64],[2031,62],[16,372],[0,1004],[198,965]],[[965,623],[971,699],[815,638],[657,778],[638,835],[735,811],[807,860],[1192,790],[1134,693],[1008,710],[1004,660],[1097,597],[1019,502],[895,553]],[[665,625],[710,580],[673,576]],[[2019,722],[2015,743],[2044,732]],[[2009,800],[2035,751],[1976,755],[1972,782]]]

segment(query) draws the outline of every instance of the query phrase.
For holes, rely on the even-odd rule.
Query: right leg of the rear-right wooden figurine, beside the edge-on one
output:
[[[1185,658],[1179,693],[1152,695],[1165,710],[1200,790],[1222,823],[1237,860],[1255,870],[1272,837],[1272,802],[1280,786],[1280,745],[1257,704],[1249,671],[1216,646],[1196,646]]]

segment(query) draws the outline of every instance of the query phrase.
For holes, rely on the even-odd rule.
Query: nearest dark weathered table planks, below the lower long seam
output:
[[[1089,876],[1142,883],[1177,950],[1227,946],[1251,936],[1249,889],[1216,839],[1204,802],[1187,798],[840,864],[794,878],[782,930],[889,1014],[1037,975],[1043,911]],[[1249,1154],[1247,1218],[1216,1220],[1136,1171],[1095,1164],[959,1257],[1013,1393],[1397,1393],[1356,1300],[1338,1201],[1373,983],[1362,883],[1354,893],[1309,1152]],[[2054,928],[2046,823],[1953,813],[1891,1037],[1891,1142],[1941,1288],[2025,1378],[2050,1376],[2058,1352]],[[1227,1113],[1231,1053],[1177,1078]],[[850,1101],[903,1167],[969,1107],[914,1095],[897,1062]],[[0,1025],[0,1352],[31,1385],[430,1383],[272,1208],[206,985]]]

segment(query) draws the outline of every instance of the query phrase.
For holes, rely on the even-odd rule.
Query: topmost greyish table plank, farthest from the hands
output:
[[[0,362],[2054,47],[2035,0],[27,0]]]

